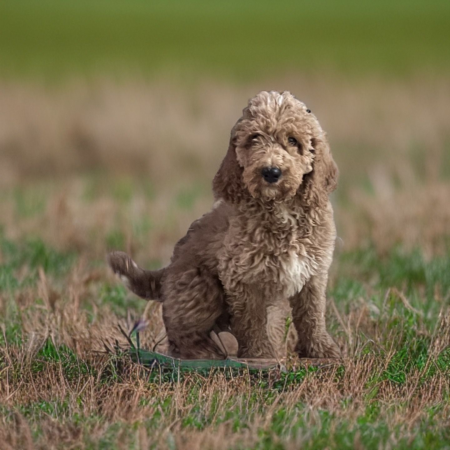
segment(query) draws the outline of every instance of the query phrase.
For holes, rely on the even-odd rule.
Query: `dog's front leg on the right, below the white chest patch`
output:
[[[301,358],[339,358],[340,351],[325,327],[327,275],[311,277],[302,291],[291,297],[292,318],[298,334],[295,347]]]

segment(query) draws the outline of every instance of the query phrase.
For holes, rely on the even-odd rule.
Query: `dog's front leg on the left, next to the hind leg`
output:
[[[239,345],[239,358],[275,358],[267,333],[267,310],[259,295],[243,290],[227,296],[231,331]]]

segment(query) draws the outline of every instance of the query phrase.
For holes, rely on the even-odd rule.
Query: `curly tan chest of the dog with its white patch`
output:
[[[261,221],[250,218],[231,228],[219,264],[227,291],[244,288],[274,300],[288,298],[317,273],[315,248],[305,239],[297,217],[280,209],[277,220],[262,227]]]

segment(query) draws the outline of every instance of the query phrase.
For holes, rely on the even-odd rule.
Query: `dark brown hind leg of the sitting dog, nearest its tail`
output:
[[[169,351],[182,359],[224,359],[210,336],[225,302],[222,285],[207,269],[171,270],[162,289],[162,316]]]

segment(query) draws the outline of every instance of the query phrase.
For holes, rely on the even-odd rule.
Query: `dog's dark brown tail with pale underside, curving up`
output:
[[[165,269],[144,270],[125,252],[108,254],[108,264],[131,292],[146,300],[161,302],[161,279]]]

